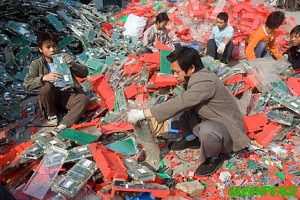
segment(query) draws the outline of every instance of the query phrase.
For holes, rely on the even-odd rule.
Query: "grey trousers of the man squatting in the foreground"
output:
[[[232,139],[227,128],[219,122],[201,120],[192,109],[172,118],[172,128],[193,133],[200,141],[200,162],[207,158],[232,152]]]

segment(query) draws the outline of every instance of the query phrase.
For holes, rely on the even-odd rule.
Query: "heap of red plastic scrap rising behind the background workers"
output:
[[[167,28],[171,41],[182,44],[197,43],[204,48],[211,30],[215,25],[216,16],[224,11],[229,15],[229,24],[234,28],[235,59],[244,58],[244,50],[248,37],[265,23],[266,17],[274,11],[268,2],[260,0],[245,1],[132,1],[118,13],[117,17],[126,19],[129,14],[147,17],[148,25],[154,23],[159,12],[168,12]],[[283,52],[288,47],[289,31],[296,26],[295,18],[286,19],[277,33],[277,42]],[[146,28],[147,28],[146,26]]]

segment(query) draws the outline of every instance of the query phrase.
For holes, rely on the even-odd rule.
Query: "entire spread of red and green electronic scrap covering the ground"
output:
[[[236,31],[235,58],[243,58],[246,38],[272,8],[258,1],[133,0],[113,14],[70,0],[0,5],[0,178],[16,199],[300,198],[300,77],[284,61],[240,60],[224,67],[203,58],[236,97],[246,132],[257,143],[232,154],[210,176],[195,175],[198,150],[168,150],[181,137],[168,122],[124,121],[130,109],[161,103],[183,90],[171,75],[167,47],[137,54],[139,38],[123,35],[127,15],[147,17],[150,23],[168,10],[172,40],[203,48],[216,14],[224,10]],[[281,50],[293,23],[279,29]],[[89,69],[81,83],[92,103],[79,124],[57,136],[35,126],[36,120],[43,122],[36,93],[22,86],[39,56],[39,31],[57,35],[60,51]]]

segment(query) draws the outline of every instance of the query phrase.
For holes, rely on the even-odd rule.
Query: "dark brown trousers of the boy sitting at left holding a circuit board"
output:
[[[67,111],[67,115],[63,118],[61,124],[68,127],[80,120],[89,104],[89,99],[84,94],[60,91],[49,82],[39,88],[38,98],[47,116]]]

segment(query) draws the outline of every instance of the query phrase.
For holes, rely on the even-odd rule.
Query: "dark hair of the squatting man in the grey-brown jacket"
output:
[[[167,56],[167,60],[170,63],[177,61],[179,67],[185,73],[187,73],[188,70],[192,68],[192,65],[195,66],[195,71],[204,68],[199,53],[195,49],[186,46],[175,49],[171,54]]]

